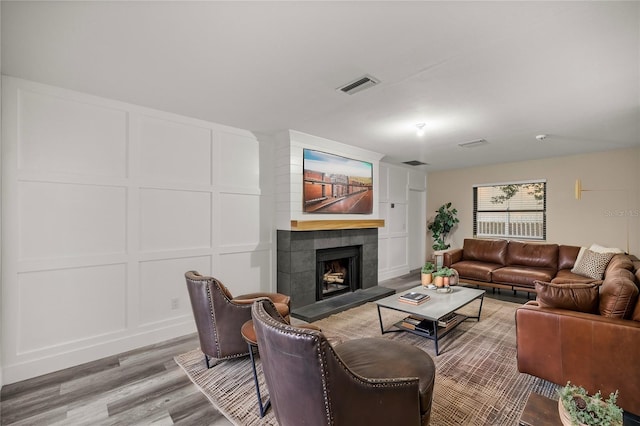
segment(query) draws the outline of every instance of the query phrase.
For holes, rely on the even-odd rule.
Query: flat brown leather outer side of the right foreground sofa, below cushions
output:
[[[640,322],[528,302],[516,310],[518,371],[588,392],[608,396],[619,391],[618,404],[640,413]]]

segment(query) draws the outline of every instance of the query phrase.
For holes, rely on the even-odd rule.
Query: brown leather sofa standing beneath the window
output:
[[[535,281],[585,281],[571,272],[579,252],[578,246],[469,238],[444,253],[444,265],[468,284],[535,293]]]

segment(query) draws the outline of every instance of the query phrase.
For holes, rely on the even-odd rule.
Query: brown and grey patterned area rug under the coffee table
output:
[[[479,322],[462,323],[440,343],[408,332],[380,334],[374,303],[349,309],[315,322],[330,339],[382,337],[407,342],[426,351],[436,364],[431,425],[516,425],[531,392],[554,397],[558,386],[521,374],[516,368],[515,310],[519,305],[485,298]],[[477,314],[478,302],[465,309]],[[385,326],[402,318],[383,309]],[[258,414],[255,385],[249,358],[224,361],[211,369],[196,349],[175,358],[193,383],[216,408],[236,425],[277,425],[269,409]],[[260,389],[268,397],[259,359]]]

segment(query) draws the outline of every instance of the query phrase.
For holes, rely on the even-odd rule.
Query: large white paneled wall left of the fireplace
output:
[[[253,134],[9,77],[2,101],[5,383],[195,331],[189,269],[273,290]]]

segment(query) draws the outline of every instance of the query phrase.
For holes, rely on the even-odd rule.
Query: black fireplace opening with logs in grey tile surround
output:
[[[316,250],[316,300],[361,288],[362,246]]]

